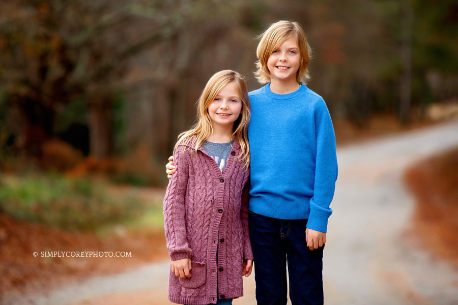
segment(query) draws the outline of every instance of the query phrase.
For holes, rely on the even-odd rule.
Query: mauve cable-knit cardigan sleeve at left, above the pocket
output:
[[[164,197],[164,231],[171,260],[190,258],[192,250],[186,239],[185,196],[189,173],[189,151],[180,146],[174,154],[176,173],[168,182]]]

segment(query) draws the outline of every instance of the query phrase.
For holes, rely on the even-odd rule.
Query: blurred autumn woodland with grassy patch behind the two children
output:
[[[2,214],[83,231],[160,215],[116,191],[164,188],[208,78],[232,69],[260,87],[256,36],[281,19],[308,36],[307,85],[326,101],[338,143],[456,111],[453,0],[2,1]]]

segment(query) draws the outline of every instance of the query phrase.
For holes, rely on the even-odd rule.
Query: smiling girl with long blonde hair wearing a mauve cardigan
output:
[[[213,75],[198,100],[198,122],[178,137],[179,169],[164,198],[171,264],[168,298],[181,304],[231,304],[243,295],[253,254],[248,233],[250,152],[243,77]]]

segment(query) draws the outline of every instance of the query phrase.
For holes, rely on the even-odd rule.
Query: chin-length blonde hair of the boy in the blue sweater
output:
[[[301,25],[294,21],[281,20],[269,26],[264,33],[257,38],[260,39],[257,45],[256,55],[256,72],[254,75],[257,80],[262,83],[270,82],[270,72],[267,68],[267,60],[276,48],[278,48],[284,41],[290,38],[296,38],[301,61],[299,70],[296,73],[296,80],[298,83],[307,83],[310,79],[308,74],[308,64],[310,63],[311,48],[307,42],[304,31]]]

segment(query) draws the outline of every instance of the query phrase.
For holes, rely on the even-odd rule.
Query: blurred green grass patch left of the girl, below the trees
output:
[[[103,182],[34,173],[0,177],[0,211],[68,230],[92,230],[144,215],[133,195],[110,196]]]

